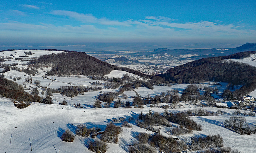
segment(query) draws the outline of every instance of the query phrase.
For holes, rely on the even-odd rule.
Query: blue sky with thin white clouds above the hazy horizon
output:
[[[0,48],[35,43],[255,43],[255,6],[255,0],[2,0]]]

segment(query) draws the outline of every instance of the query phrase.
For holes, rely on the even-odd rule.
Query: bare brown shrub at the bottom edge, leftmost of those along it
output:
[[[100,140],[91,141],[88,144],[88,149],[96,153],[104,153],[108,148],[108,144]]]

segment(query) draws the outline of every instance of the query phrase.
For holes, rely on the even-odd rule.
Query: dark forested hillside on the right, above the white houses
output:
[[[228,56],[202,58],[171,68],[158,76],[172,83],[228,82],[232,85],[244,85],[242,89],[249,92],[256,88],[256,67],[225,59],[242,59],[255,53],[256,51],[247,51]]]

